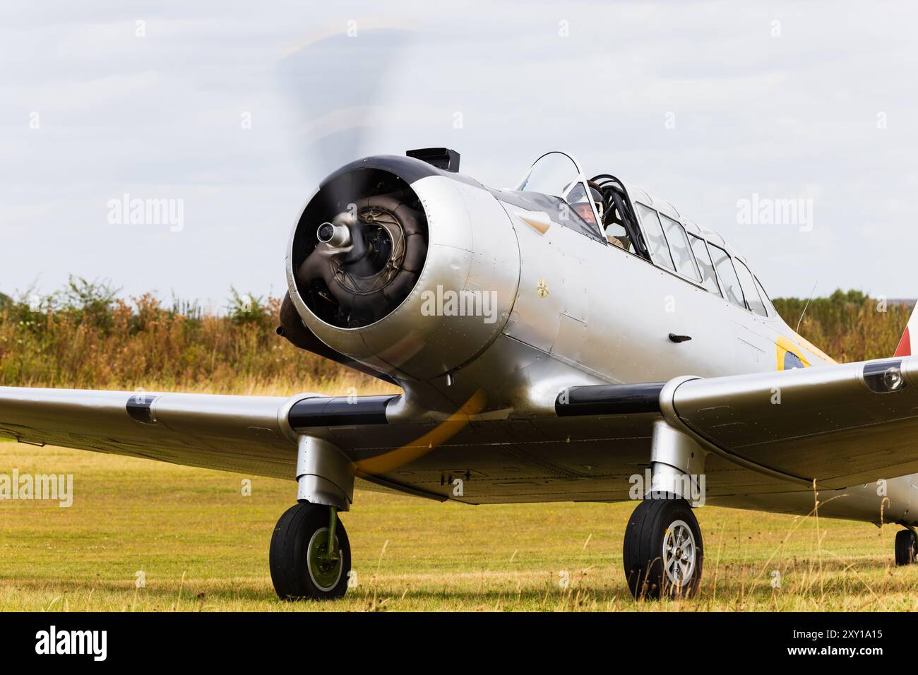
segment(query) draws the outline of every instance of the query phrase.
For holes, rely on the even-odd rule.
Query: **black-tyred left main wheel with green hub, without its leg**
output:
[[[269,560],[271,581],[278,598],[334,600],[344,596],[351,571],[351,543],[339,519],[335,525],[339,560],[320,564],[315,556],[322,546],[327,546],[328,531],[329,507],[319,504],[295,504],[277,521],[271,536]],[[310,560],[315,567],[310,565]]]

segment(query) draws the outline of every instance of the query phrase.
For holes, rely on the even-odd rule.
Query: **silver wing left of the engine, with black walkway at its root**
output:
[[[292,480],[297,431],[291,423],[374,423],[380,415],[385,422],[392,398],[0,387],[0,437]]]

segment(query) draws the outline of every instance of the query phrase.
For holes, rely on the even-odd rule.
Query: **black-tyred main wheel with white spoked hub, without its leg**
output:
[[[625,529],[625,578],[635,598],[690,597],[698,591],[704,545],[689,502],[642,501]]]

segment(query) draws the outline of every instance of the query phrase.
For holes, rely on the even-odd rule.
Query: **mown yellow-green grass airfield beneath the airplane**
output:
[[[268,543],[292,480],[0,440],[0,473],[14,468],[73,474],[73,506],[0,501],[0,611],[918,609],[918,565],[893,564],[895,525],[704,507],[699,597],[635,602],[621,569],[632,503],[471,507],[372,492],[341,516],[356,586],[341,601],[278,602]]]

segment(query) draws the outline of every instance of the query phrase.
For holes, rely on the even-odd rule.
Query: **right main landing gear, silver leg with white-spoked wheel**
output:
[[[635,599],[690,597],[698,591],[704,543],[689,499],[703,489],[705,456],[668,422],[655,423],[651,486],[628,521],[622,551]]]

